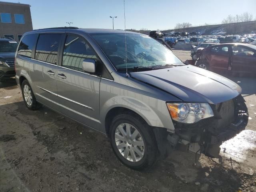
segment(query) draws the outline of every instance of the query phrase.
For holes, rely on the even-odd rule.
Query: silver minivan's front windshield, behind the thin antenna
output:
[[[147,35],[126,34],[125,38],[124,33],[105,33],[92,34],[92,37],[120,71],[126,68],[126,57],[128,69],[139,67],[150,70],[184,65],[172,51]]]

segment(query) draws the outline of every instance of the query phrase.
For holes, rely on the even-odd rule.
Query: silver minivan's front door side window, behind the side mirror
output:
[[[79,36],[68,36],[64,45],[62,66],[83,71],[83,60],[89,58],[97,60],[92,47]]]

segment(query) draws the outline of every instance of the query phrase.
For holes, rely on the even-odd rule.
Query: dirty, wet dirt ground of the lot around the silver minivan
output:
[[[256,79],[232,80],[243,88],[250,120],[238,140],[223,144],[230,153],[201,155],[193,166],[193,153],[174,150],[140,172],[118,161],[106,136],[46,107],[28,110],[14,79],[0,82],[0,192],[254,192]]]

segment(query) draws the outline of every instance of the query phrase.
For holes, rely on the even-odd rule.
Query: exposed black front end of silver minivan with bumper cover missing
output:
[[[212,105],[214,117],[195,124],[175,123],[175,134],[168,141],[176,146],[183,144],[192,152],[218,157],[222,142],[242,131],[248,122],[248,110],[242,96]]]

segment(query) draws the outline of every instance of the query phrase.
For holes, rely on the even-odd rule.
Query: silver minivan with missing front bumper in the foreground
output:
[[[26,106],[41,104],[110,138],[119,160],[152,166],[170,148],[214,156],[248,120],[241,88],[185,65],[144,34],[48,28],[25,33],[15,59]]]

